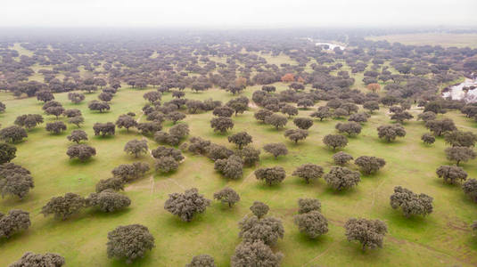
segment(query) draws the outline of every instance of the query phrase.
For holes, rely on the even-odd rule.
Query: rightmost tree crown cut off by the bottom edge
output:
[[[232,267],[249,266],[280,266],[284,255],[274,253],[262,241],[242,242],[235,247],[235,253],[230,260]]]

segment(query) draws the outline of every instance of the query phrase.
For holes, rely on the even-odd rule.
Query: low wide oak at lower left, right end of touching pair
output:
[[[111,213],[131,205],[131,199],[114,190],[102,190],[99,193],[91,193],[86,198],[86,206],[95,206],[105,213]]]

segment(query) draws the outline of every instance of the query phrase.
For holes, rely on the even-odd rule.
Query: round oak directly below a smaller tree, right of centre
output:
[[[326,183],[334,190],[347,190],[358,185],[358,182],[361,181],[358,172],[351,171],[343,166],[333,166],[324,178]]]

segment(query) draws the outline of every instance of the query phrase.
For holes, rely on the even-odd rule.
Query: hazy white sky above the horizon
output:
[[[477,26],[477,0],[3,0],[0,27]]]

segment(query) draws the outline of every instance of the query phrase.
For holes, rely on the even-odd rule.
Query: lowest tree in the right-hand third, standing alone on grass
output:
[[[357,240],[361,243],[363,251],[366,247],[382,247],[382,239],[388,232],[386,224],[379,220],[351,218],[344,224],[348,241]]]

